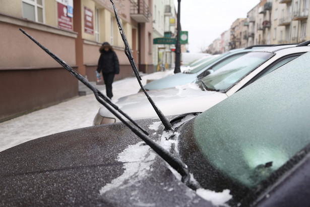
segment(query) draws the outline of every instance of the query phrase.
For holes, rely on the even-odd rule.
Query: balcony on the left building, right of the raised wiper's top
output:
[[[152,16],[151,11],[145,1],[140,0],[138,3],[130,3],[130,17],[138,23],[145,23],[150,21]]]

